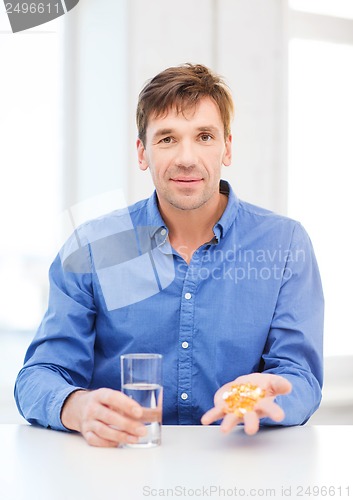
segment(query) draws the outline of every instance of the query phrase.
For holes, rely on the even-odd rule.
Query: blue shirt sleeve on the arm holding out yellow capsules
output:
[[[264,373],[282,375],[292,392],[278,396],[281,425],[304,424],[321,401],[324,298],[311,241],[294,226],[282,284],[263,353]],[[278,425],[270,419],[262,424]]]

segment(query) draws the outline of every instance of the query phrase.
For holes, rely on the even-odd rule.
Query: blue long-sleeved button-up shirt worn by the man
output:
[[[199,424],[216,390],[275,373],[283,425],[305,422],[322,385],[323,295],[310,240],[291,219],[237,199],[189,265],[168,240],[157,196],[79,227],[50,269],[49,307],[15,397],[32,423],[64,429],[78,388],[120,389],[119,356],[163,354],[163,422]],[[264,424],[273,422],[263,420]]]

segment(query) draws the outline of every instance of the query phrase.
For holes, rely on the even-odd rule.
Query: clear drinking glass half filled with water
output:
[[[161,354],[123,354],[121,391],[143,407],[142,421],[146,434],[128,448],[151,448],[161,444],[162,425],[162,359]]]

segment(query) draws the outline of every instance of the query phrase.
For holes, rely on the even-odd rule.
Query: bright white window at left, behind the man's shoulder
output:
[[[0,331],[37,328],[58,241],[60,44],[46,29],[0,33]]]

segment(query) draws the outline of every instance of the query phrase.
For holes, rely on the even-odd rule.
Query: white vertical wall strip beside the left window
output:
[[[128,2],[84,0],[65,16],[65,207],[126,189]]]

